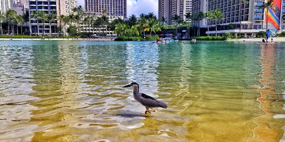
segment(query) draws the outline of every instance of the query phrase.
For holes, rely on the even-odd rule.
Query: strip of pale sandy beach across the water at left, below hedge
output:
[[[10,40],[10,38],[0,38],[0,41],[1,40]],[[69,39],[67,39],[67,38],[50,38],[50,39],[47,39],[47,38],[45,38],[45,39],[40,39],[40,38],[33,38],[33,39],[31,39],[31,38],[23,38],[23,39],[21,39],[21,38],[12,38],[12,40],[42,40],[42,41],[46,41],[46,40],[56,40],[56,41],[63,41],[63,40],[65,40],[65,41],[78,41],[78,40],[81,40],[81,41],[89,41],[89,40],[87,40],[87,38],[78,38],[78,40],[76,39],[76,40],[72,40],[71,38],[69,38]],[[104,38],[95,38],[95,39],[90,39],[90,41],[114,41],[114,39],[104,39]]]

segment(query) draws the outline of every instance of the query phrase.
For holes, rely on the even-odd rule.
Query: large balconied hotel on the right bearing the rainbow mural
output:
[[[259,31],[266,30],[268,22],[268,33],[274,36],[276,32],[285,29],[285,1],[274,0],[275,10],[269,9],[268,21],[266,21],[266,9],[259,9],[265,0],[249,0],[249,3],[239,3],[239,0],[193,0],[192,14],[199,11],[213,11],[219,9],[224,19],[218,21],[217,34],[222,36],[225,32],[231,35],[245,37],[256,37]],[[241,10],[241,12],[240,12]],[[240,16],[241,15],[241,16]],[[241,24],[240,24],[241,23]],[[192,26],[198,26],[198,21],[192,21]],[[229,24],[234,24],[234,28],[229,28]],[[207,21],[205,18],[200,21],[200,26],[207,28],[209,25],[209,35],[215,35],[215,21]],[[206,32],[208,34],[208,32]]]

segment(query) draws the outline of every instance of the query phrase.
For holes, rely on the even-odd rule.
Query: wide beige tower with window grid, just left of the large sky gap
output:
[[[127,18],[127,0],[84,0],[86,12],[103,13],[109,16],[123,16]]]

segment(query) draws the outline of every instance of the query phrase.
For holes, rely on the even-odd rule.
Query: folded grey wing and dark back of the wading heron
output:
[[[162,108],[167,108],[166,103],[162,102],[162,101],[158,101],[156,99],[154,99],[153,97],[150,97],[144,93],[142,94],[142,99],[141,99],[141,104],[144,106],[148,106],[148,107],[162,107]]]

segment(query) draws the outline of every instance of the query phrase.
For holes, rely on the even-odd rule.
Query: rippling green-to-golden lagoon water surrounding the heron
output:
[[[0,140],[285,141],[285,44],[0,41]],[[151,116],[141,92],[168,103]]]

